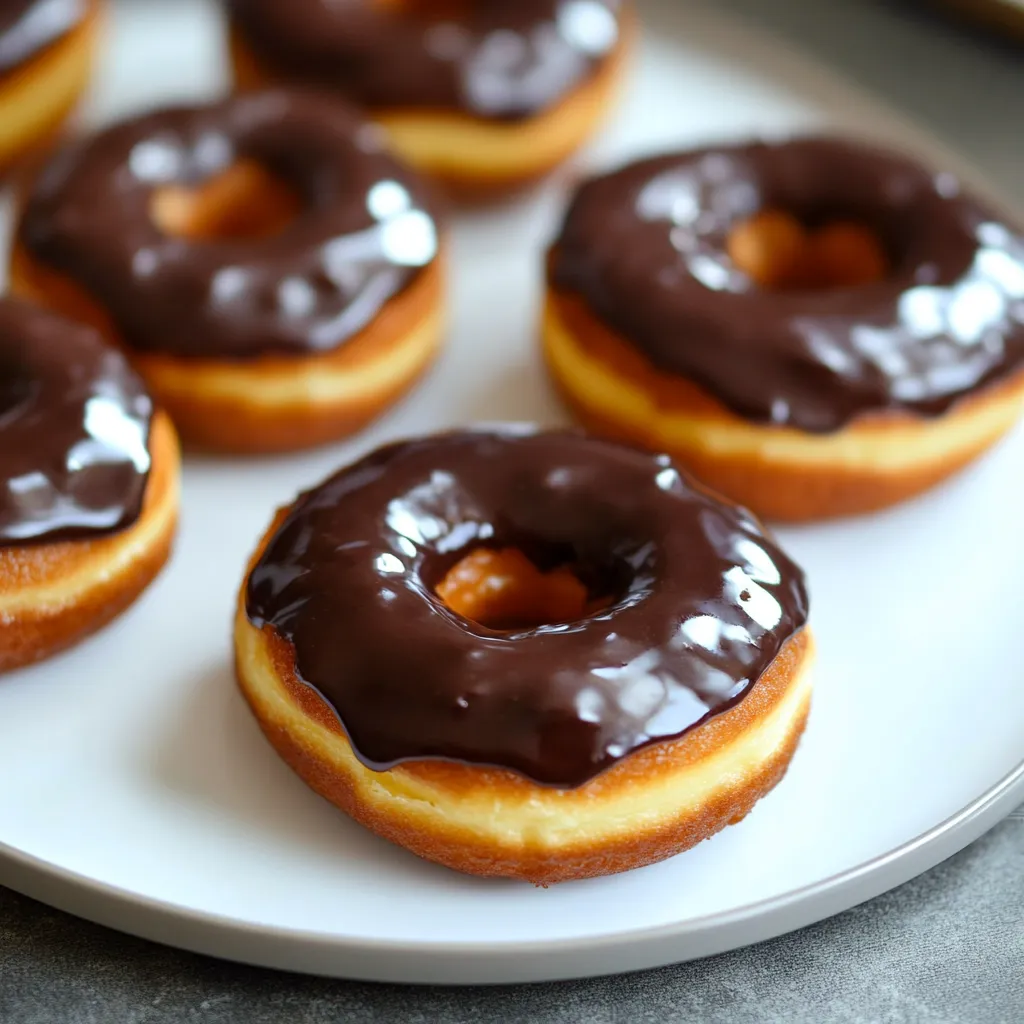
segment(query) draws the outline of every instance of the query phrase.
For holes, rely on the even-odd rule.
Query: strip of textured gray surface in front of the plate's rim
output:
[[[1017,1024],[1024,818],[795,935],[642,974],[400,988],[273,974],[140,942],[0,890],[4,1024]]]

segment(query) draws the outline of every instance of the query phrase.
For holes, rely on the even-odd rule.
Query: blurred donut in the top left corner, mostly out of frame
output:
[[[0,5],[0,171],[41,153],[92,73],[100,0]]]

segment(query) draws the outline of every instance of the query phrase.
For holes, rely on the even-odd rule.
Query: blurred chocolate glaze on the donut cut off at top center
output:
[[[475,0],[460,16],[431,16],[374,0],[228,0],[247,45],[285,78],[371,108],[508,119],[552,106],[592,75],[615,48],[627,6]]]

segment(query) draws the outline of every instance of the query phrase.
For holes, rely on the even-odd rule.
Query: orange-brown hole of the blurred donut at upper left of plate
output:
[[[153,194],[150,216],[165,234],[191,242],[258,241],[295,220],[299,197],[254,161],[239,161],[189,187],[164,185]]]

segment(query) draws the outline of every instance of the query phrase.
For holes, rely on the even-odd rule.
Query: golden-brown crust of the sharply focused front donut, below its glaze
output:
[[[247,572],[284,522],[279,514]],[[674,856],[740,821],[785,773],[806,723],[813,641],[796,634],[735,707],[559,790],[502,768],[403,762],[374,771],[335,713],[296,675],[294,650],[246,615],[234,623],[243,695],[278,754],[367,828],[468,874],[547,886]]]

